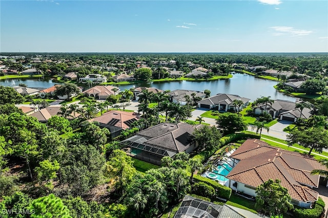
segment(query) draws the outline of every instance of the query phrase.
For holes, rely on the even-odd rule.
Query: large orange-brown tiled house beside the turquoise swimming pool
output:
[[[271,147],[258,139],[247,139],[230,158],[234,167],[226,178],[233,190],[255,197],[257,186],[279,179],[288,189],[291,203],[305,208],[318,200],[318,192],[312,188],[319,186],[320,176],[311,175],[311,171],[327,170],[309,155]]]

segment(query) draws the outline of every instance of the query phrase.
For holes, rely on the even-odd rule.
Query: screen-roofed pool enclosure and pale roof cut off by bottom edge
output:
[[[262,215],[231,205],[218,205],[186,195],[174,218],[263,218]]]

